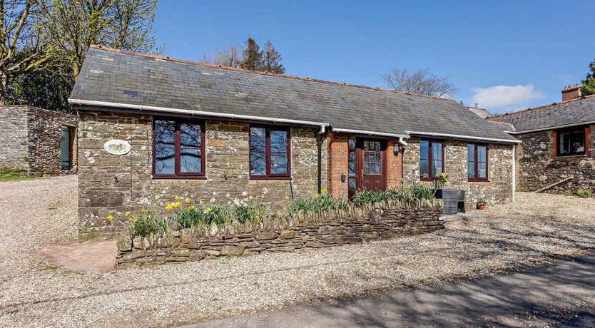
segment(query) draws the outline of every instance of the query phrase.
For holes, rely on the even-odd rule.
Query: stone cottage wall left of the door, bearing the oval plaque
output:
[[[112,237],[123,222],[107,224],[106,216],[140,210],[141,203],[162,209],[176,196],[200,203],[227,204],[245,200],[285,207],[285,196],[305,198],[317,192],[317,130],[291,128],[293,181],[250,180],[247,123],[206,121],[206,179],[153,179],[151,116],[79,112],[78,215],[81,240]],[[110,155],[109,139],[128,140],[131,152]],[[327,140],[322,145],[322,188],[327,188]],[[117,181],[116,181],[117,179]]]

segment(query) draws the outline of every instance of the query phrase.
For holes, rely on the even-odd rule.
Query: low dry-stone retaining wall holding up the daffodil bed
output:
[[[161,237],[118,239],[117,267],[199,261],[220,256],[247,256],[261,252],[292,252],[384,240],[444,229],[442,203],[418,200],[391,202],[365,208],[350,207],[324,215],[300,216],[225,229],[200,227]]]

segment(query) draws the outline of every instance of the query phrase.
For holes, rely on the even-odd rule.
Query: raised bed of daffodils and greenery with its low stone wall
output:
[[[442,203],[412,195],[407,191],[370,194],[360,197],[360,203],[347,203],[322,193],[291,202],[283,214],[241,202],[198,210],[191,200],[178,198],[167,205],[175,211],[172,221],[148,212],[127,213],[131,225],[118,239],[117,264],[127,267],[290,252],[444,229],[439,220]],[[377,198],[383,200],[372,203]],[[171,225],[178,227],[171,229]]]

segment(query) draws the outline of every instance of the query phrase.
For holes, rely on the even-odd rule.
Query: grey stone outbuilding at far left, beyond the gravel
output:
[[[30,175],[76,171],[74,115],[31,106],[0,107],[0,168]]]

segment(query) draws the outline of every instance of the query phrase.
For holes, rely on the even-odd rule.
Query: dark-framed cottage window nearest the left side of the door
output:
[[[250,127],[250,178],[290,178],[290,132]]]

